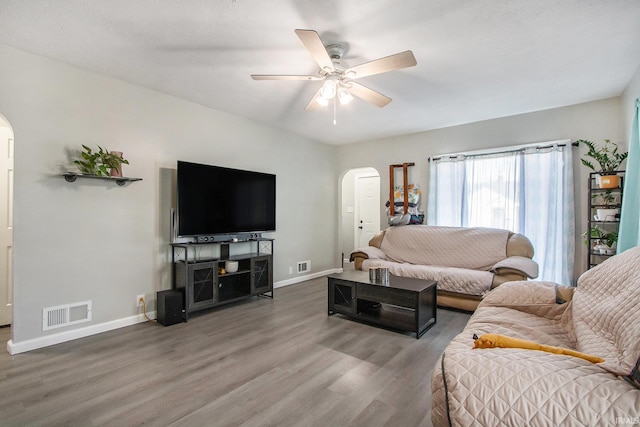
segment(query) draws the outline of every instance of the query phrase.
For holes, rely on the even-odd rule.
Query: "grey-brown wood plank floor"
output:
[[[322,278],[188,323],[2,353],[0,425],[431,425],[431,371],[469,315],[439,309],[416,340],[326,310]]]

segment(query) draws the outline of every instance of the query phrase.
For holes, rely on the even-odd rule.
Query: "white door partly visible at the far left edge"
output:
[[[0,325],[12,321],[13,133],[0,123]]]

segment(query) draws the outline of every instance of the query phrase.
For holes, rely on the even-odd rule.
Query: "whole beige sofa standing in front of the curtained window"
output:
[[[390,227],[356,249],[356,270],[438,281],[438,305],[473,311],[501,283],[538,276],[533,247],[521,234],[491,228]]]

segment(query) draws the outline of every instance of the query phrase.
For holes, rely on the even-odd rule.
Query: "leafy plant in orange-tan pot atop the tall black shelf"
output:
[[[576,142],[578,144],[584,144],[589,148],[589,151],[585,154],[586,157],[580,160],[582,164],[589,169],[594,172],[599,172],[598,186],[600,188],[617,188],[620,185],[620,177],[614,172],[627,158],[629,152],[619,153],[618,145],[609,139],[605,139],[604,144],[601,146],[596,146],[593,142],[585,139],[580,139]],[[598,164],[599,168],[596,168],[594,162],[590,160],[589,157]]]

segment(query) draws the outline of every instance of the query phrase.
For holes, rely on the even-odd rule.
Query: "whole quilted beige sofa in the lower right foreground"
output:
[[[535,281],[501,285],[434,367],[433,424],[640,423],[639,319],[640,247],[587,271],[576,288]],[[485,333],[577,350],[604,362],[520,348],[472,349],[473,336]]]

